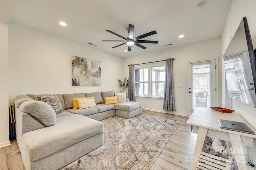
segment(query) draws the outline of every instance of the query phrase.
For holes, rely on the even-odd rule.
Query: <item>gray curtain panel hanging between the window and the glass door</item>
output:
[[[175,111],[174,83],[172,59],[166,59],[165,84],[164,84],[164,106],[166,111]]]

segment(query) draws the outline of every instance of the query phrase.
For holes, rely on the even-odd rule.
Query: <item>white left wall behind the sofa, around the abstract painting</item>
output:
[[[101,62],[101,86],[72,86],[71,56]],[[20,94],[118,90],[123,58],[10,22],[9,100]]]

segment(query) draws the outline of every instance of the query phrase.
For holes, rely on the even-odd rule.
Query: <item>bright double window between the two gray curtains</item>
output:
[[[135,68],[135,95],[164,98],[164,80],[165,65]]]

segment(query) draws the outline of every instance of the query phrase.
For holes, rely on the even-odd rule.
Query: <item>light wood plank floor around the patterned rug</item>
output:
[[[186,125],[189,117],[148,110],[143,110],[142,114],[180,122],[151,170],[189,170],[190,158],[193,156],[197,137],[197,134],[191,133],[189,126]],[[25,170],[16,141],[8,147],[0,148],[0,170]]]

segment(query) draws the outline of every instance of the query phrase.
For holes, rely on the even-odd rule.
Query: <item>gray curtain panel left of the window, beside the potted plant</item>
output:
[[[135,79],[134,79],[134,64],[129,66],[129,88],[128,88],[128,98],[130,101],[135,102]]]

